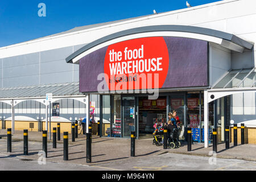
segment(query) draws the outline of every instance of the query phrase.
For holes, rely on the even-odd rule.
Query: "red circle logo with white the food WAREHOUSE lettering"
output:
[[[105,55],[109,90],[162,88],[169,68],[163,37],[131,39],[112,44]]]

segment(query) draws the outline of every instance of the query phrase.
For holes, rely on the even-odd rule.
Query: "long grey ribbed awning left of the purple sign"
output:
[[[53,96],[77,96],[79,92],[79,82],[68,82],[59,84],[19,86],[0,89],[1,98],[27,98],[27,97],[46,97],[47,93]]]

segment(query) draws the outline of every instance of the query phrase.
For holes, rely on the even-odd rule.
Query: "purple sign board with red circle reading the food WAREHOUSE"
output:
[[[80,92],[207,86],[208,43],[161,36],[125,40],[89,53],[79,66]]]

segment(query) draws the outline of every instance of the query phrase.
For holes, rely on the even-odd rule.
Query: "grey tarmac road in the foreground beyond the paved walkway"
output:
[[[27,160],[24,156],[0,154],[1,171],[256,171],[256,162],[237,159],[219,159],[181,154],[162,154],[138,158],[127,158],[93,166],[68,162],[39,164],[38,160]],[[210,162],[209,162],[210,160]],[[42,160],[40,160],[42,162]]]

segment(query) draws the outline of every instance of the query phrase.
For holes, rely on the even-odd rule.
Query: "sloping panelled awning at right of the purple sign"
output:
[[[256,84],[255,68],[233,69],[224,75],[212,89],[250,88]]]

